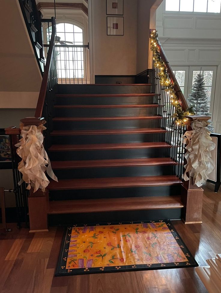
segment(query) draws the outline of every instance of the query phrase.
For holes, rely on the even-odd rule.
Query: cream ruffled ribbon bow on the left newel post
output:
[[[46,122],[44,122],[46,123]],[[17,154],[21,157],[21,162],[18,164],[18,170],[23,175],[23,180],[28,183],[27,189],[34,187],[34,192],[39,188],[44,192],[49,184],[47,174],[55,181],[58,181],[51,168],[50,159],[43,147],[42,131],[46,129],[43,124],[38,127],[35,125],[23,126],[20,125],[21,136],[15,146],[18,147]],[[46,167],[46,165],[48,165]]]

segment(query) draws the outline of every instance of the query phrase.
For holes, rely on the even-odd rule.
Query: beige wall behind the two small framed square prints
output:
[[[107,35],[105,0],[92,1],[91,9],[93,74],[136,74],[137,0],[124,1],[124,35]]]

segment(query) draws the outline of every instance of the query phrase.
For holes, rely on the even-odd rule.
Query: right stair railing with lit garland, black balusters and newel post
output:
[[[171,159],[177,162],[177,176],[182,180],[186,164],[185,145],[181,137],[192,130],[192,122],[208,121],[210,117],[194,115],[188,107],[165,52],[159,42],[156,29],[150,30],[150,48],[153,52],[152,87],[158,115],[162,117],[162,128],[166,132],[166,142],[171,145]],[[183,220],[185,224],[202,223],[203,189],[195,185],[193,177],[182,184],[181,199],[184,204]]]

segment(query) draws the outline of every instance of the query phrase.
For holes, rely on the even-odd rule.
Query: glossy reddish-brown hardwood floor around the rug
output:
[[[204,187],[203,224],[173,221],[200,266],[221,252],[221,191]],[[204,293],[195,268],[54,277],[63,228],[29,234],[16,229],[0,234],[0,292],[28,293]]]

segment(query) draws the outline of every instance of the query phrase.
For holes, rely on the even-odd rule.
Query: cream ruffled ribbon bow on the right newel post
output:
[[[216,145],[212,142],[210,131],[205,127],[208,125],[206,121],[194,120],[192,122],[192,130],[186,131],[180,138],[184,144],[187,144],[185,158],[187,164],[184,166],[186,171],[183,174],[184,180],[193,177],[194,183],[200,187],[208,179],[214,168],[214,162],[211,159],[211,150]],[[187,175],[189,172],[189,176]]]

